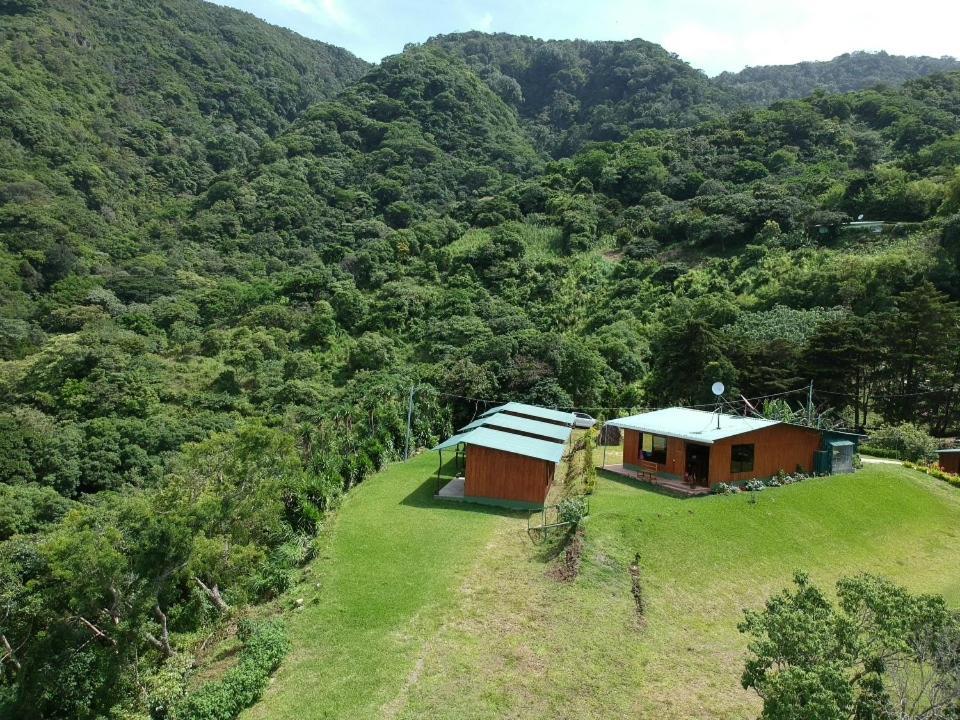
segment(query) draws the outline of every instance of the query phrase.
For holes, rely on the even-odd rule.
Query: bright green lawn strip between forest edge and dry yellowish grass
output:
[[[403,687],[424,638],[503,513],[437,504],[427,453],[350,493],[326,552],[294,591],[293,651],[246,718],[374,718]]]

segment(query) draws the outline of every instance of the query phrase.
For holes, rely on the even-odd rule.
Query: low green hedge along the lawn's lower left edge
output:
[[[282,622],[242,623],[240,660],[220,680],[185,696],[174,708],[174,720],[234,720],[260,699],[270,674],[280,667],[290,641]]]

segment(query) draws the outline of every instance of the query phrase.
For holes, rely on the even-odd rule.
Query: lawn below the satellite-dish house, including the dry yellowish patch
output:
[[[507,519],[380,716],[754,718],[736,625],[793,571],[809,569],[828,591],[862,569],[956,599],[960,495],[914,475],[878,464],[771,490],[757,505],[675,500],[603,480],[570,582],[551,577],[554,564],[524,520]],[[629,567],[638,551],[642,623]]]

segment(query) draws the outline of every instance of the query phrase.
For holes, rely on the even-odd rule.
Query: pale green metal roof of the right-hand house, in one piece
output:
[[[677,437],[704,445],[712,445],[717,440],[780,424],[778,420],[740,417],[725,413],[720,414],[719,420],[718,428],[717,413],[677,407],[617,418],[611,420],[609,424],[652,435]]]

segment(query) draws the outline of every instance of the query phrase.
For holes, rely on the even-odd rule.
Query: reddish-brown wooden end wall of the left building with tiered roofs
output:
[[[542,505],[555,470],[548,460],[468,445],[464,495]]]

